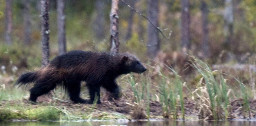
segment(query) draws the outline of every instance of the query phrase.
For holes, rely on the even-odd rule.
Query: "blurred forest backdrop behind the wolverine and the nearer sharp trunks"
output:
[[[157,4],[150,6],[152,1],[157,1]],[[154,42],[148,31],[151,25],[148,20],[119,1],[120,52],[135,54],[144,63],[150,64],[152,60],[149,59],[154,59],[168,61],[172,66],[184,65],[179,61],[187,62],[186,58],[179,60],[179,56],[189,54],[210,65],[244,64],[255,54],[256,0],[125,2],[151,21],[156,21],[156,27],[163,33],[153,30],[157,35]],[[11,5],[9,19],[8,4]],[[56,0],[49,0],[49,5],[52,59],[59,55]],[[65,0],[65,8],[68,51],[110,50],[111,0]],[[34,70],[41,66],[40,9],[40,0],[0,0],[0,66],[3,75],[20,75],[25,69]],[[149,17],[150,13],[154,13],[153,18]],[[156,49],[150,50],[151,46],[156,46]],[[154,52],[153,55],[150,52]]]

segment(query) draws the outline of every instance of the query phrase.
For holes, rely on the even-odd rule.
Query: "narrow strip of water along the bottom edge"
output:
[[[256,120],[233,121],[81,121],[0,122],[0,126],[256,126]]]

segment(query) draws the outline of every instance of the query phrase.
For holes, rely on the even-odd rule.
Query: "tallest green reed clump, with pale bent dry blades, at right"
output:
[[[202,76],[199,86],[203,81],[205,82],[203,87],[199,87],[192,92],[200,92],[201,94],[197,94],[201,100],[200,110],[204,109],[204,111],[207,111],[204,112],[204,115],[207,116],[205,118],[210,120],[223,119],[222,110],[224,110],[225,118],[227,118],[227,106],[230,103],[227,94],[228,85],[222,73],[217,70],[212,71],[206,63],[196,57],[191,56],[191,58],[193,59],[192,66],[194,66]]]

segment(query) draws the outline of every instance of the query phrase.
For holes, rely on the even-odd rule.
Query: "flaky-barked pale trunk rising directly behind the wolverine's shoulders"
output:
[[[110,42],[112,53],[118,53],[119,51],[119,38],[118,38],[118,2],[119,0],[112,0],[111,12],[110,12]]]

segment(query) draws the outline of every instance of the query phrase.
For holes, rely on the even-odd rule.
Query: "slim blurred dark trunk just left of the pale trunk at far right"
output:
[[[203,38],[202,38],[202,49],[203,49],[203,57],[208,58],[210,56],[208,38],[208,6],[204,0],[201,0],[201,12],[202,12],[202,28],[203,28]]]

